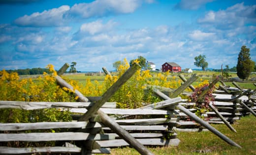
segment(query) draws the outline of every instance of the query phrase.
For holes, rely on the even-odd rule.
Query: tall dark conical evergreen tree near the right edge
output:
[[[240,79],[248,79],[251,72],[254,70],[255,62],[250,58],[250,48],[246,46],[241,47],[241,51],[238,55],[236,70],[237,76]]]

